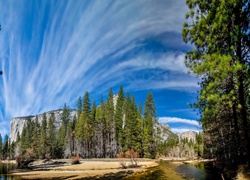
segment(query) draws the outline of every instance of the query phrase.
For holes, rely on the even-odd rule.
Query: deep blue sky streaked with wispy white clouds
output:
[[[0,0],[0,133],[13,117],[76,108],[86,91],[98,102],[120,85],[137,102],[152,92],[174,132],[200,131],[186,12],[184,0]]]

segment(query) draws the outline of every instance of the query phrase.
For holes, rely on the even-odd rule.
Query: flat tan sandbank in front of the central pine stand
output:
[[[125,160],[123,160],[125,162]],[[42,161],[40,161],[42,162]],[[145,172],[146,168],[158,166],[155,160],[140,159],[139,167],[123,169],[119,159],[81,160],[81,164],[71,165],[70,160],[53,160],[47,163],[35,162],[33,170],[15,170],[11,175],[23,179],[98,179],[123,178]],[[126,165],[130,161],[126,160]]]

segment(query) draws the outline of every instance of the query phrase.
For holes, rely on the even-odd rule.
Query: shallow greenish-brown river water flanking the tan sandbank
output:
[[[15,164],[0,163],[0,180],[18,180],[20,178],[8,175],[10,170],[16,168]],[[125,178],[126,179],[126,178]],[[128,178],[130,179],[130,178]],[[221,179],[221,176],[216,173],[211,163],[198,164],[183,164],[161,161],[159,166],[149,169],[147,173],[139,174],[132,179],[138,180],[213,180]]]

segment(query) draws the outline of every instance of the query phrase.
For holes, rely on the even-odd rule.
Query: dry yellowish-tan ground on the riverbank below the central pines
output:
[[[127,159],[129,161],[129,159]],[[145,171],[147,167],[157,166],[154,160],[140,161],[138,168],[121,169],[117,159],[105,160],[81,160],[81,164],[70,165],[69,162],[57,166],[43,166],[39,171],[14,172],[13,175],[20,176],[23,179],[81,179],[102,176],[126,176],[127,174]]]

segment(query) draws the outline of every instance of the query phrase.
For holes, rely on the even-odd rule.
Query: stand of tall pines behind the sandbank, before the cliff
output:
[[[12,143],[12,154],[8,156],[114,158],[120,152],[133,150],[139,157],[156,157],[159,144],[156,140],[159,138],[154,130],[158,122],[152,93],[148,93],[143,109],[142,104],[137,105],[134,96],[124,94],[122,86],[118,95],[110,89],[107,100],[101,97],[98,106],[95,101],[91,103],[86,92],[83,98],[79,97],[77,113],[71,121],[69,111],[65,104],[58,130],[53,113],[49,119],[44,113],[41,123],[37,116],[35,121],[29,118],[17,141]],[[8,143],[8,140],[4,141],[0,148],[8,149]]]

